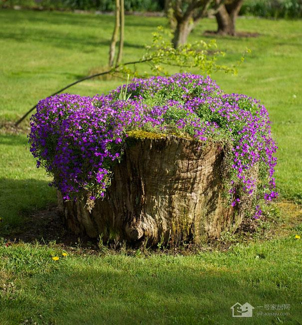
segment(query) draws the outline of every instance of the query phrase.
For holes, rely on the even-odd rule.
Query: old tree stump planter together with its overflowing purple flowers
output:
[[[29,142],[68,227],[105,241],[200,243],[259,218],[277,196],[267,110],[208,76],[46,98]]]

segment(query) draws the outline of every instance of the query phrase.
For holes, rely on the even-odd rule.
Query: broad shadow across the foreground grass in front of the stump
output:
[[[178,257],[163,259],[77,259],[76,269],[66,261],[59,273],[28,279],[26,299],[13,300],[10,307],[65,324],[235,324],[231,307],[239,301],[257,308],[249,323],[299,323],[298,295],[276,287],[264,268],[255,275],[236,258],[225,267],[217,256],[213,261],[222,267],[210,267],[202,259],[192,260],[192,265]],[[293,310],[280,316],[282,321],[257,316],[256,311],[264,310],[257,306],[271,301],[286,301]]]

